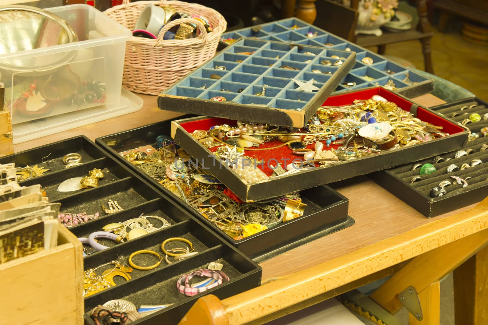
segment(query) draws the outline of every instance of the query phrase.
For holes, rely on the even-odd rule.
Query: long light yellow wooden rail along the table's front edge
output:
[[[327,291],[488,229],[488,199],[363,249],[222,300],[229,324],[247,324]]]

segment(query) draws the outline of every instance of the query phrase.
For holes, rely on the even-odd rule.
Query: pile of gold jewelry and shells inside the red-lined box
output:
[[[207,132],[214,141],[224,145],[215,154],[226,163],[233,163],[246,152],[269,151],[286,145],[293,154],[303,156],[307,164],[324,165],[448,135],[442,132],[442,127],[424,122],[378,95],[355,100],[347,106],[323,106],[304,129],[289,130],[276,125],[237,121],[236,126],[216,125],[208,131],[197,131],[199,134]],[[265,143],[276,145],[263,146]],[[333,148],[337,146],[337,149]],[[307,149],[310,147],[313,149]],[[324,150],[325,147],[328,150]],[[288,172],[297,169],[290,165],[285,167]],[[279,175],[281,173],[271,177]],[[267,179],[243,178],[247,182]]]

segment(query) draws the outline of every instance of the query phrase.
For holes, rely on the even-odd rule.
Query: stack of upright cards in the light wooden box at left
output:
[[[21,187],[14,164],[0,165],[0,264],[56,247],[60,207],[41,185]]]

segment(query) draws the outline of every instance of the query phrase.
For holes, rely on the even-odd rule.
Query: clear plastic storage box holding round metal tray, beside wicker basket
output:
[[[62,131],[58,126],[73,123],[74,115],[93,122],[94,113],[97,120],[113,117],[108,113],[114,109],[128,113],[121,91],[125,43],[132,33],[89,5],[46,10],[66,20],[79,41],[0,55],[16,143]],[[34,103],[26,105],[25,98]],[[95,107],[100,109],[90,109]]]

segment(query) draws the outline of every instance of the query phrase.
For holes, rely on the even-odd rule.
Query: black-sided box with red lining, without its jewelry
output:
[[[212,172],[225,184],[225,186],[231,189],[245,202],[264,200],[284,193],[304,190],[321,184],[328,184],[433,157],[441,153],[447,153],[451,150],[461,148],[468,139],[468,131],[460,125],[445,119],[443,116],[438,115],[433,111],[412,103],[404,96],[395,94],[381,87],[366,88],[355,92],[330,96],[327,98],[324,105],[347,105],[351,104],[354,99],[369,99],[373,95],[385,97],[387,100],[396,103],[402,109],[411,112],[425,122],[442,126],[444,128],[443,132],[447,132],[449,135],[404,147],[402,149],[373,154],[347,162],[339,162],[327,167],[319,166],[303,172],[295,172],[289,175],[273,177],[269,180],[257,183],[246,183],[236,172],[226,168],[223,163],[220,163],[219,159],[215,158],[215,155],[213,155],[212,152],[215,152],[217,147],[210,149],[206,148],[190,134],[195,130],[209,130],[210,127],[214,125],[221,125],[224,123],[232,126],[236,124],[235,121],[204,116],[186,118],[172,122],[171,135],[191,156],[198,158],[198,163],[203,164],[204,168],[207,168]],[[259,123],[259,121],[254,122]],[[266,149],[280,144],[282,144],[282,142],[275,140],[260,145],[260,148]],[[309,146],[309,149],[312,149],[311,145]],[[286,146],[271,150],[246,150],[244,155],[263,160],[264,164],[260,165],[259,168],[261,168],[267,175],[272,173],[269,165],[276,166],[278,161],[281,162],[282,165],[286,165],[286,162],[291,163],[293,159],[301,158],[301,156],[294,155]]]

